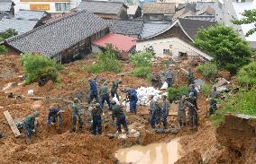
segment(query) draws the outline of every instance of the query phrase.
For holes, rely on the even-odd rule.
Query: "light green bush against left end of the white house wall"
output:
[[[140,51],[130,56],[130,61],[135,66],[151,66],[152,65],[152,52],[151,51]]]

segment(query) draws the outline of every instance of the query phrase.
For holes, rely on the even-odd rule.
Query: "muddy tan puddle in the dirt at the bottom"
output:
[[[133,164],[173,164],[180,158],[179,139],[170,142],[151,143],[146,146],[133,146],[115,153],[120,163]]]

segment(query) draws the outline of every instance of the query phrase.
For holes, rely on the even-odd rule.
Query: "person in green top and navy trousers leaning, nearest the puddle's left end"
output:
[[[127,126],[127,122],[126,122],[126,117],[123,112],[123,108],[121,108],[120,105],[117,105],[114,100],[111,101],[111,104],[113,105],[112,119],[114,122],[114,119],[116,118],[117,132],[119,134],[122,133],[121,125],[123,125],[125,133],[128,134],[128,126]]]

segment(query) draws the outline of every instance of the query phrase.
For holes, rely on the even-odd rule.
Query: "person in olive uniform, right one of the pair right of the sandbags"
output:
[[[188,107],[188,119],[189,119],[189,124],[191,125],[192,128],[198,125],[198,116],[197,116],[197,108],[196,108],[196,102],[197,99],[194,96],[193,92],[189,93],[189,97],[186,101],[186,105]]]

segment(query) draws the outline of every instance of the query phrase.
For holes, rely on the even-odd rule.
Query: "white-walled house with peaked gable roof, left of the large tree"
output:
[[[136,50],[153,47],[156,56],[171,56],[174,60],[180,56],[200,56],[206,60],[213,57],[193,46],[197,30],[214,26],[216,22],[178,19],[175,22],[152,22],[144,24],[142,39],[137,40]]]

